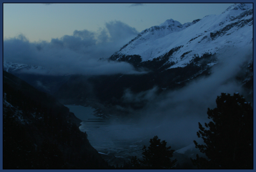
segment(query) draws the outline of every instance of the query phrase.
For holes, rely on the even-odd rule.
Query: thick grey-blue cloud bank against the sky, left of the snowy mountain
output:
[[[135,28],[120,21],[106,23],[97,32],[75,30],[73,35],[54,38],[51,42],[29,42],[23,35],[4,40],[4,60],[41,66],[23,72],[47,75],[139,73],[125,62],[99,60],[108,58],[138,34]]]

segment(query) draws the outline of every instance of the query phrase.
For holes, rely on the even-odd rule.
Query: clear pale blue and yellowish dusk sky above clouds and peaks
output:
[[[3,4],[4,39],[19,34],[29,41],[51,41],[74,30],[97,32],[106,22],[121,21],[138,32],[167,19],[181,24],[221,14],[232,4]]]

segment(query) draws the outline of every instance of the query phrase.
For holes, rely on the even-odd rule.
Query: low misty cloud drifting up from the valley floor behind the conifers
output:
[[[137,121],[137,135],[127,131],[124,137],[150,139],[157,135],[175,150],[193,144],[193,140],[200,142],[196,134],[198,122],[209,122],[207,108],[216,107],[217,96],[221,92],[231,95],[239,92],[245,96],[242,84],[235,77],[242,70],[241,65],[252,59],[252,50],[252,46],[224,47],[217,56],[219,64],[212,68],[210,76],[193,80],[181,89],[165,91],[160,95],[156,87],[137,94],[126,90],[124,102],[147,104],[141,110],[131,111]]]

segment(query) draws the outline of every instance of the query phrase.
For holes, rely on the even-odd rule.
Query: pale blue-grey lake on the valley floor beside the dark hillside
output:
[[[117,120],[104,120],[103,118],[94,116],[94,108],[84,107],[79,105],[65,105],[69,108],[70,112],[73,112],[75,116],[83,122],[79,127],[80,131],[86,132],[90,144],[101,153],[101,157],[105,159],[109,165],[121,166],[124,162],[130,161],[132,156],[142,158],[142,148],[144,145],[149,145],[149,140],[155,133],[152,130],[142,129],[142,127],[135,122],[125,121],[121,123]],[[146,124],[144,124],[146,125]],[[161,125],[156,124],[150,126],[151,129],[156,130],[161,128]],[[146,127],[147,128],[147,127]],[[166,131],[161,129],[160,131]],[[169,145],[167,145],[169,146]],[[174,146],[172,146],[173,149]],[[184,154],[187,150],[190,152],[194,148],[193,142],[187,145],[185,148],[177,150],[177,153]],[[196,152],[188,152],[188,157],[193,157]],[[193,156],[192,156],[193,155]],[[174,154],[173,159],[176,158]],[[186,163],[191,163],[190,159],[185,159]],[[180,155],[177,157],[181,159]],[[181,161],[185,161],[184,158]]]

